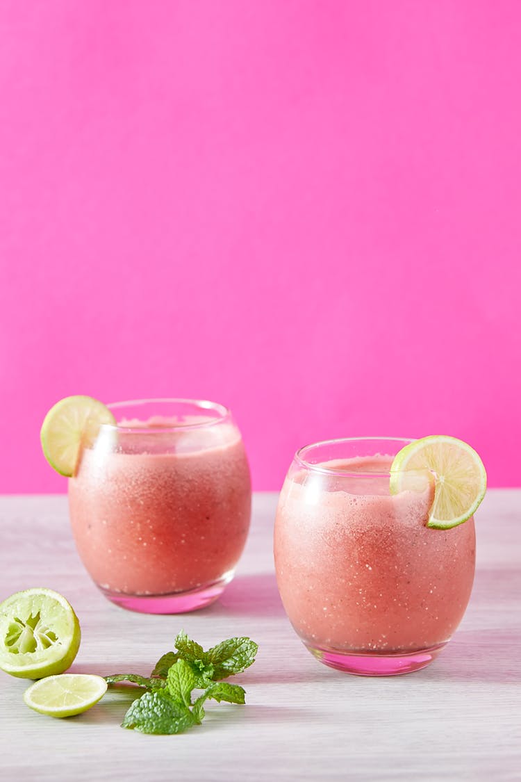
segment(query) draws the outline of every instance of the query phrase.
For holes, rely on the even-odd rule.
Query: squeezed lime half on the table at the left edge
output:
[[[0,604],[0,669],[22,679],[63,673],[80,647],[80,622],[61,594],[16,592]]]

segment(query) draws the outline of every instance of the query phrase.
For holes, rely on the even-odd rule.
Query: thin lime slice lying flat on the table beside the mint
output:
[[[49,717],[72,717],[98,703],[106,691],[102,676],[62,673],[31,684],[23,693],[23,701],[35,712]]]

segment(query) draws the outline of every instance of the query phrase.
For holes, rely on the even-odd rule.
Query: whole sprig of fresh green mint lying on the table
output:
[[[178,734],[202,722],[208,699],[244,704],[244,689],[221,680],[255,662],[259,648],[255,641],[228,638],[205,651],[181,630],[175,647],[177,651],[159,658],[149,677],[137,673],[105,676],[109,684],[127,681],[145,687],[145,694],[128,709],[123,727],[148,734]],[[203,692],[192,700],[194,690]]]

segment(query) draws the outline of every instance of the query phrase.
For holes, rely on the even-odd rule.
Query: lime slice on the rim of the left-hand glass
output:
[[[49,465],[70,478],[82,446],[94,442],[102,424],[116,423],[109,408],[91,396],[66,396],[48,411],[41,425],[41,447]]]

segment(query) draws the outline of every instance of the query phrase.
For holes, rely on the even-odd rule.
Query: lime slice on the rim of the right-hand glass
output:
[[[411,471],[434,473],[434,502],[428,527],[450,529],[466,522],[487,489],[487,472],[476,451],[448,435],[430,435],[402,448],[391,465],[391,494],[407,488]]]

